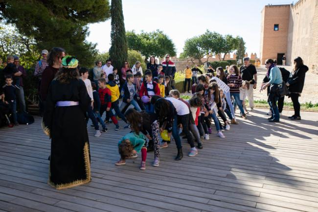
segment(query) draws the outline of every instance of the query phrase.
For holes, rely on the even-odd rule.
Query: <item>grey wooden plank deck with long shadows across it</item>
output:
[[[116,143],[128,130],[110,124],[94,138],[89,127],[92,181],[60,191],[46,184],[50,141],[40,118],[0,128],[0,212],[318,212],[318,113],[290,121],[287,111],[280,123],[264,114],[239,118],[226,139],[214,128],[196,157],[174,161],[171,143],[160,151],[159,167],[148,154],[144,171],[139,157],[114,165]]]

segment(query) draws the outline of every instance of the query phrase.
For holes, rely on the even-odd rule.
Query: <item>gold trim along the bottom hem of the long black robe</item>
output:
[[[65,184],[55,184],[50,180],[51,179],[51,170],[49,168],[47,184],[50,185],[51,187],[54,187],[54,188],[60,190],[60,189],[64,189],[64,188],[71,188],[71,187],[75,187],[75,186],[89,183],[91,181],[91,162],[90,162],[90,149],[89,149],[88,142],[85,143],[83,150],[84,150],[84,163],[85,163],[86,179],[75,180],[71,183],[65,183]]]

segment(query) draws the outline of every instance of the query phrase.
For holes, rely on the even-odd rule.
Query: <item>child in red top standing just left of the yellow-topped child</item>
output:
[[[114,116],[112,112],[112,94],[111,91],[106,87],[106,79],[105,78],[100,78],[98,80],[98,94],[99,94],[99,99],[101,102],[100,105],[100,117],[103,116],[103,113],[106,111],[106,116],[108,114],[108,117],[110,117],[113,120],[114,125],[116,126],[115,130],[119,130],[119,125],[118,125],[118,120]]]

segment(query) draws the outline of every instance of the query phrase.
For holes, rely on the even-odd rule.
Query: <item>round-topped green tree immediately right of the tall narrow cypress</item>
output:
[[[145,63],[147,59],[154,55],[156,57],[163,57],[169,53],[171,56],[176,56],[176,47],[172,40],[157,29],[153,32],[141,32],[136,34],[135,31],[126,32],[128,47],[139,51],[141,55],[145,56]]]

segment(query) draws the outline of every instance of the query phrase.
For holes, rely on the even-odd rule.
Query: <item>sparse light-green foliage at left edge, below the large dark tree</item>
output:
[[[21,65],[30,68],[40,57],[36,42],[16,32],[12,25],[0,25],[0,58],[5,62],[6,56],[18,55]]]

